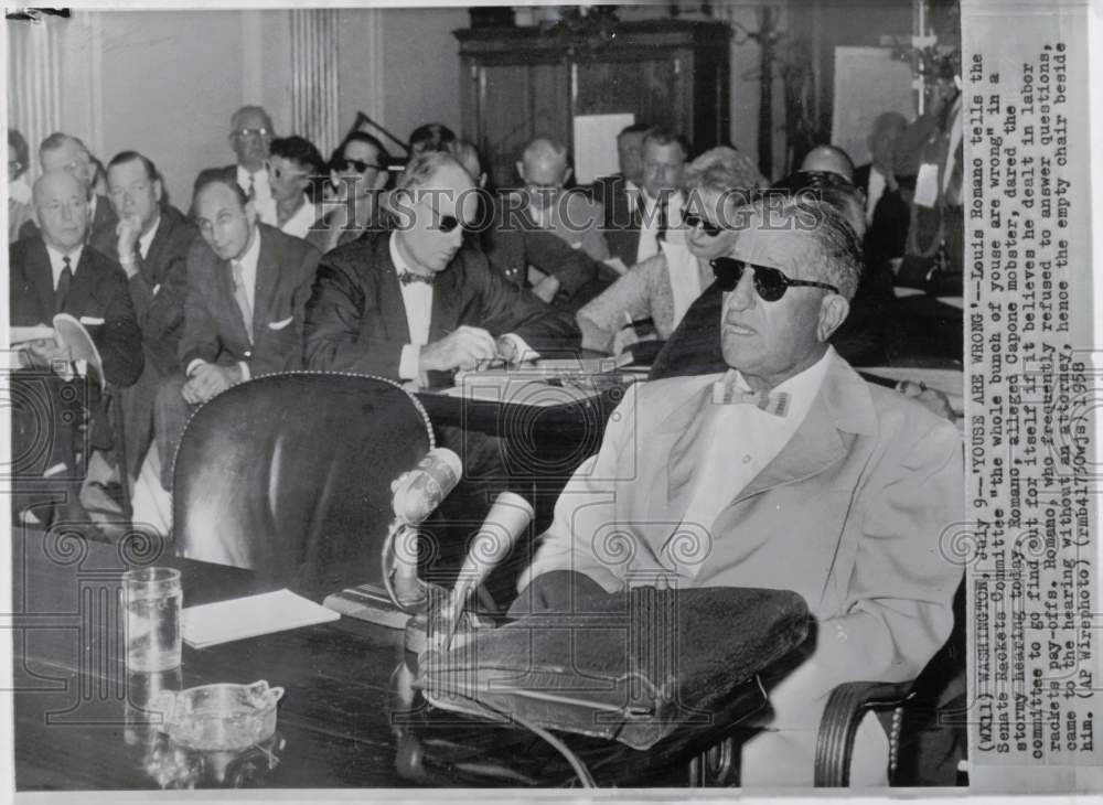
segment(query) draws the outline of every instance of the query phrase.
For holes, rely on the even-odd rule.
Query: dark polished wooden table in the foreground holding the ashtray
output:
[[[523,730],[427,708],[405,684],[401,633],[358,621],[203,651],[185,644],[176,672],[128,676],[118,605],[124,570],[180,568],[185,605],[266,588],[247,571],[178,559],[136,539],[116,547],[75,532],[15,529],[12,551],[18,791],[560,785],[572,776]],[[237,755],[175,748],[132,707],[158,685],[258,679],[286,689],[277,734]],[[684,783],[687,762],[763,702],[750,678],[732,687],[709,727],[683,730],[649,752],[580,737],[568,743],[600,784],[640,784],[664,770],[666,784]]]

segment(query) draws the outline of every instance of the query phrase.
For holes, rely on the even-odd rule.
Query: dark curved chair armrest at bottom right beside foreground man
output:
[[[912,683],[852,681],[831,691],[816,736],[816,787],[847,786],[854,738],[867,710],[896,708],[914,695]],[[890,737],[890,744],[895,737]]]

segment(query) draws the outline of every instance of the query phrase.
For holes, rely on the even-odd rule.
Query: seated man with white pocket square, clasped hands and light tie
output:
[[[267,224],[234,174],[200,173],[192,216],[202,239],[188,253],[178,372],[157,398],[161,482],[172,487],[176,443],[193,406],[251,377],[302,366],[302,311],[320,257]]]

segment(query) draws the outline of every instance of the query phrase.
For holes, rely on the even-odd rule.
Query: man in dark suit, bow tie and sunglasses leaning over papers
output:
[[[464,244],[473,190],[450,154],[410,160],[394,193],[394,232],[334,249],[318,269],[307,305],[310,368],[425,385],[430,372],[520,357],[529,347],[577,346],[569,318],[507,282]]]

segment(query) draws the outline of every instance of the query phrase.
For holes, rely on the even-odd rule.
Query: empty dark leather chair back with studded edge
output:
[[[390,380],[290,372],[234,386],[176,451],[176,551],[315,598],[378,583],[390,482],[432,446],[421,405]]]

